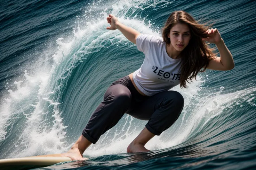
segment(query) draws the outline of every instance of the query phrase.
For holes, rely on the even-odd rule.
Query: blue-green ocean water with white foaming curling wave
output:
[[[110,84],[144,60],[108,14],[161,35],[171,12],[214,21],[235,68],[200,73],[182,93],[173,126],[126,153],[146,121],[124,115],[83,154],[86,161],[41,169],[256,168],[254,0],[21,0],[0,7],[0,159],[63,153],[81,135]],[[214,45],[213,45],[214,46]]]

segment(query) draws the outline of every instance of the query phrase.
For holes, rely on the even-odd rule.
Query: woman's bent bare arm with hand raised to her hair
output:
[[[235,66],[232,54],[226,47],[217,28],[208,29],[205,34],[207,34],[207,38],[202,38],[202,40],[216,44],[220,55],[220,57],[216,56],[213,60],[210,60],[207,69],[222,71],[232,70]]]

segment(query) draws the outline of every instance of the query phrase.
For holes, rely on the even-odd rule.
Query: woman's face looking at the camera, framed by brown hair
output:
[[[171,45],[177,50],[182,51],[189,44],[191,37],[190,29],[187,24],[176,24],[170,30],[168,38],[170,38]]]

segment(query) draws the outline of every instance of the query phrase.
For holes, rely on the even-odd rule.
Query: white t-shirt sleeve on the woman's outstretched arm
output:
[[[147,55],[147,52],[149,51],[149,44],[153,37],[153,35],[139,34],[136,38],[136,45],[138,50]]]

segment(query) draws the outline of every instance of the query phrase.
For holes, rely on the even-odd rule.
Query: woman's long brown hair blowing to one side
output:
[[[168,34],[173,26],[177,23],[187,24],[190,28],[191,39],[189,44],[181,52],[181,88],[187,88],[186,83],[192,82],[192,79],[195,78],[198,72],[204,72],[209,65],[209,61],[214,58],[217,54],[215,53],[215,48],[210,48],[209,43],[202,41],[202,38],[205,38],[206,35],[203,34],[207,29],[209,29],[212,24],[199,24],[190,14],[185,11],[174,11],[171,13],[167,19],[165,26],[162,28],[162,37],[163,41],[167,44],[170,44],[170,38]],[[205,66],[205,68],[203,68]],[[203,70],[202,70],[203,69]]]

